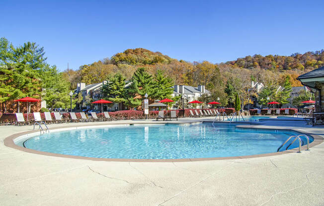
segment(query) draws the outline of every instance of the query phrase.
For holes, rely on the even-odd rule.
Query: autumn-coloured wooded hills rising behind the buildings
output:
[[[79,82],[98,83],[107,80],[115,73],[130,79],[139,67],[145,67],[151,74],[162,70],[164,75],[173,79],[174,84],[204,84],[209,89],[213,87],[216,89],[217,85],[222,86],[228,80],[243,81],[244,84],[253,80],[281,85],[287,75],[290,76],[292,86],[301,86],[296,77],[324,66],[323,62],[324,50],[309,51],[304,54],[294,53],[290,56],[255,54],[234,61],[213,64],[208,61],[177,60],[161,52],[137,48],[116,53],[110,58],[91,64],[81,65],[78,70],[70,70],[69,74],[64,71],[63,76],[71,82],[71,89],[75,89]]]

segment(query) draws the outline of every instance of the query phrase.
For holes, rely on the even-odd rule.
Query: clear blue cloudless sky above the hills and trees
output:
[[[59,70],[129,48],[213,63],[324,49],[324,0],[1,0],[0,37],[36,42]]]

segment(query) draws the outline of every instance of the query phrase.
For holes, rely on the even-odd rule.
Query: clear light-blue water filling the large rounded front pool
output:
[[[16,144],[38,151],[100,158],[202,158],[273,153],[294,134],[239,129],[229,124],[139,124],[51,132]],[[297,141],[289,149],[296,147]]]

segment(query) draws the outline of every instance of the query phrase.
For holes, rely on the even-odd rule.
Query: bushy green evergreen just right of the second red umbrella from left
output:
[[[100,89],[102,98],[113,103],[125,102],[125,77],[120,73],[116,73],[110,77],[107,84]]]

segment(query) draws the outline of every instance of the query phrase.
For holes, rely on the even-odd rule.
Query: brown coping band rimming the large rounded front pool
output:
[[[203,121],[188,121],[188,122],[172,122],[175,124],[191,124],[191,123],[197,123],[197,122],[203,122]],[[81,125],[81,126],[61,126],[61,127],[53,127],[50,128],[51,130],[54,129],[62,129],[62,128],[82,128],[82,127],[91,127],[91,126],[106,126],[106,125],[125,125],[125,124],[166,124],[169,122],[134,122],[134,123],[107,123],[107,124],[92,124],[92,125]],[[265,128],[259,128],[258,126],[254,125],[238,125],[237,127],[239,128],[246,128],[246,129],[259,129],[259,130],[289,130],[289,131],[294,131],[298,133],[303,133],[306,135],[310,135],[314,138],[314,141],[310,143],[310,148],[317,146],[321,143],[324,142],[324,138],[321,135],[316,135],[313,133],[309,132],[304,132],[299,129],[295,128],[268,128],[269,126],[264,125]],[[76,155],[68,155],[68,154],[57,154],[57,153],[48,153],[48,152],[43,152],[43,151],[37,151],[37,150],[32,150],[24,147],[20,147],[16,144],[14,144],[14,139],[17,137],[20,137],[22,135],[30,134],[30,133],[35,133],[37,130],[33,131],[25,131],[25,132],[20,132],[16,133],[13,135],[10,135],[6,137],[3,140],[3,143],[6,147],[10,147],[16,150],[20,150],[23,152],[27,153],[32,153],[32,154],[41,154],[41,155],[47,155],[47,156],[56,156],[56,157],[64,157],[64,158],[74,158],[74,159],[87,159],[87,160],[93,160],[93,161],[120,161],[120,162],[188,162],[188,161],[207,161],[207,160],[226,160],[226,159],[245,159],[245,158],[256,158],[256,157],[266,157],[266,156],[275,156],[275,155],[281,155],[281,154],[290,154],[290,153],[296,153],[298,151],[298,148],[292,149],[292,150],[287,150],[283,152],[277,152],[277,153],[267,153],[267,154],[253,154],[253,155],[243,155],[243,156],[229,156],[229,157],[206,157],[206,158],[181,158],[181,159],[127,159],[127,158],[98,158],[98,157],[86,157],[86,156],[76,156]],[[302,151],[306,150],[307,146],[304,145],[302,146]]]

